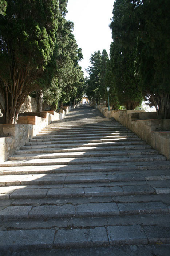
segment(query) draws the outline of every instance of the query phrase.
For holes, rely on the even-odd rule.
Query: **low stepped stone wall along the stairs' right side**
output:
[[[155,119],[155,112],[138,110],[108,111],[104,106],[94,107],[99,109],[104,116],[113,117],[170,160],[170,119]]]

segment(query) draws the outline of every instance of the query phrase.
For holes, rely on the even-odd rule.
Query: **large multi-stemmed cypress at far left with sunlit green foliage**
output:
[[[8,0],[7,4],[6,15],[0,15],[0,108],[6,123],[14,123],[27,95],[51,79],[44,71],[47,65],[54,67],[58,1]]]

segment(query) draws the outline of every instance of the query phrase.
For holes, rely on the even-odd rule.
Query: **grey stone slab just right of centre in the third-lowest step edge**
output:
[[[84,188],[84,192],[85,196],[115,196],[124,194],[120,187]]]

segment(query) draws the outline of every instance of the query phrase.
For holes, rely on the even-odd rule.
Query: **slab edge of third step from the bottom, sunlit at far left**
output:
[[[39,184],[38,184],[39,185]],[[69,185],[69,184],[68,184]],[[39,185],[40,186],[40,185]],[[10,186],[9,186],[10,187]],[[8,188],[9,188],[8,187]],[[105,197],[105,196],[127,196],[127,195],[151,195],[155,194],[156,188],[150,185],[139,185],[134,190],[134,185],[118,186],[111,185],[101,187],[84,187],[82,188],[13,188],[11,192],[1,193],[0,200],[3,199],[43,199],[43,198],[68,198],[68,197]],[[130,190],[130,188],[131,190]],[[128,189],[129,191],[128,191]],[[142,190],[143,189],[143,190]],[[10,188],[9,188],[10,190]],[[69,192],[70,191],[70,192]],[[170,193],[170,189],[169,189]]]

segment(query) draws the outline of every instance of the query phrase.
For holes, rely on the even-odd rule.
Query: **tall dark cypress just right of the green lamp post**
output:
[[[117,0],[114,3],[113,18],[111,22],[111,70],[113,86],[120,105],[127,110],[134,110],[142,102],[139,90],[139,79],[134,75],[135,42],[134,37],[134,4],[129,0]],[[127,33],[131,31],[132,33]],[[129,40],[129,47],[126,45]]]

